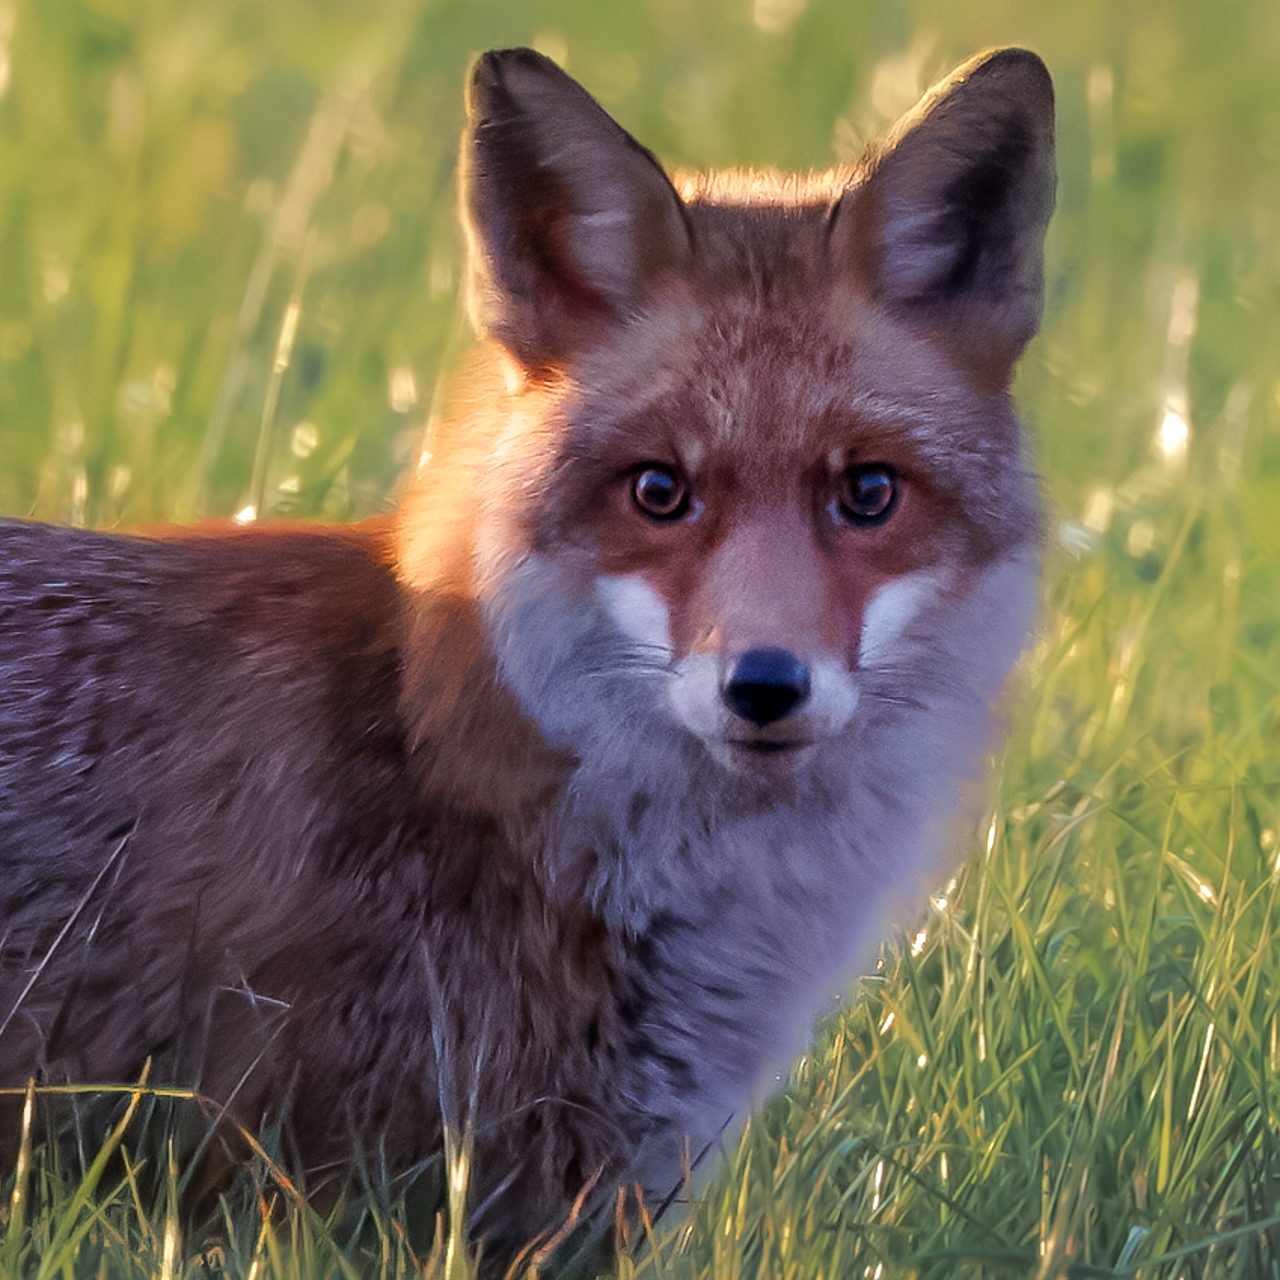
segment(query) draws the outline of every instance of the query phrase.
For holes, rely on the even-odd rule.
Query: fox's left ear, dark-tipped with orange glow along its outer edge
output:
[[[471,310],[520,364],[564,364],[690,252],[653,155],[531,49],[484,54],[463,138]]]

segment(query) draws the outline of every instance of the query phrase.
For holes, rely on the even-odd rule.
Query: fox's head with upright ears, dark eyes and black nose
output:
[[[466,526],[435,586],[545,740],[741,795],[838,778],[931,690],[980,713],[1038,541],[1009,385],[1053,202],[1039,59],[973,59],[817,177],[673,180],[530,50],[484,55],[468,106],[494,374],[415,538],[436,562]]]

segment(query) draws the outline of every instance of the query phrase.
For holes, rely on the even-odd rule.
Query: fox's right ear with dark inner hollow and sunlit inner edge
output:
[[[872,154],[832,210],[832,250],[874,297],[1007,378],[1039,326],[1053,186],[1048,70],[1023,49],[979,54]]]

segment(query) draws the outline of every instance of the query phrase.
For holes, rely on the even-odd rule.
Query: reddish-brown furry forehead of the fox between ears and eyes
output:
[[[717,178],[737,177],[703,180],[718,193]],[[695,244],[687,271],[657,285],[616,340],[580,355],[577,385],[634,406],[701,390],[731,411],[708,413],[705,426],[727,436],[746,428],[758,443],[768,426],[753,408],[773,410],[773,426],[794,430],[824,407],[822,397],[837,410],[850,399],[891,408],[904,425],[936,424],[940,408],[972,417],[1005,402],[1002,388],[983,388],[956,358],[945,333],[904,323],[837,269],[829,201],[795,200],[782,175],[772,175],[774,187],[787,195],[686,206]]]

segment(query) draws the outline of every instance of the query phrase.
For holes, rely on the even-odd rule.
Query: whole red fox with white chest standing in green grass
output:
[[[483,349],[394,515],[0,525],[0,1084],[150,1057],[312,1176],[468,1124],[502,1248],[681,1185],[942,865],[1053,101],[989,52],[855,169],[675,180],[530,50],[468,105]]]

